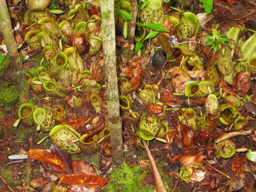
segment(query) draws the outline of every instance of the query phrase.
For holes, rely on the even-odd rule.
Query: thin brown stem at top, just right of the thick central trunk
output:
[[[134,53],[134,35],[135,35],[135,29],[136,29],[136,18],[137,18],[137,1],[131,0],[131,6],[132,6],[132,21],[129,23],[129,33],[128,33],[128,41],[130,44],[129,52],[128,52],[128,63],[131,62],[133,58]]]

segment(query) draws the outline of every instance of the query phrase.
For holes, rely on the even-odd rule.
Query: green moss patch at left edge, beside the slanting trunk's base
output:
[[[18,100],[18,87],[11,82],[0,82],[0,106],[10,107]]]

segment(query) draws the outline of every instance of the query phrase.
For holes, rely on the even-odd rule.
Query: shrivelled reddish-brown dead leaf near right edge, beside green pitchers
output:
[[[247,71],[238,72],[234,79],[234,90],[238,92],[239,95],[244,95],[247,93],[251,86],[251,74]]]

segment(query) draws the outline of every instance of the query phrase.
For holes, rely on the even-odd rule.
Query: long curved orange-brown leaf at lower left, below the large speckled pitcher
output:
[[[65,164],[61,157],[55,154],[51,154],[44,149],[29,149],[28,156],[36,159],[39,162],[51,164],[58,172],[65,172]]]

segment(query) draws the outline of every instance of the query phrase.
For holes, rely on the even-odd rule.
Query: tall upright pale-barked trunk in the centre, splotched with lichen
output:
[[[108,102],[108,126],[111,129],[112,164],[115,167],[119,167],[123,164],[123,139],[116,74],[114,0],[101,0],[101,19],[103,62]]]

